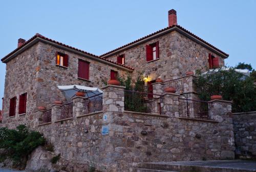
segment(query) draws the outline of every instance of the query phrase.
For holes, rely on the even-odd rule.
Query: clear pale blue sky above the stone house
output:
[[[100,55],[167,27],[170,9],[177,11],[179,25],[228,53],[227,66],[246,62],[256,68],[253,0],[2,1],[0,58],[17,47],[18,38],[35,33]],[[0,63],[1,98],[4,82]]]

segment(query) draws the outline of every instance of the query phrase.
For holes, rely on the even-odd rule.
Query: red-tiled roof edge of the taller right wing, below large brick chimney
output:
[[[188,33],[188,34],[191,35],[191,36],[194,36],[195,38],[197,38],[197,39],[199,39],[200,41],[204,42],[204,44],[206,44],[206,45],[208,45],[209,47],[211,47],[211,48],[213,48],[213,49],[215,49],[215,50],[221,52],[221,53],[224,54],[225,56],[229,56],[229,55],[226,54],[225,52],[223,52],[223,51],[221,51],[220,49],[218,49],[218,48],[212,46],[211,44],[209,44],[209,42],[206,42],[206,41],[203,40],[202,38],[200,38],[200,37],[198,37],[197,35],[195,35],[195,34],[189,32],[188,30],[184,29],[183,27],[181,27],[181,26],[179,26],[179,25],[173,25],[173,26],[170,26],[170,27],[161,29],[161,30],[159,30],[159,31],[156,31],[156,32],[154,32],[154,33],[152,33],[152,34],[146,35],[146,36],[144,36],[144,37],[142,37],[142,38],[139,38],[139,39],[137,39],[137,40],[135,40],[135,41],[130,42],[129,44],[126,44],[126,45],[124,45],[124,46],[122,46],[122,47],[119,47],[119,48],[117,48],[117,49],[114,49],[114,50],[112,50],[112,51],[110,51],[110,52],[104,53],[104,54],[100,55],[100,57],[103,57],[103,56],[105,56],[105,55],[111,54],[111,53],[113,53],[113,52],[115,52],[115,51],[117,51],[117,50],[120,50],[120,49],[122,49],[122,48],[124,48],[124,47],[130,46],[130,45],[132,45],[132,44],[134,44],[134,43],[136,43],[136,42],[138,42],[138,41],[140,41],[140,40],[143,40],[143,39],[145,39],[145,38],[147,38],[147,37],[153,36],[153,35],[155,35],[155,34],[158,34],[158,33],[162,32],[162,31],[168,30],[168,29],[170,29],[170,28],[175,28],[175,27],[177,27],[177,28],[183,30],[184,32]]]

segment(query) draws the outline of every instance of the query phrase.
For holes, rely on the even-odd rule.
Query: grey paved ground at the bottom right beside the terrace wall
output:
[[[256,161],[228,160],[228,161],[177,161],[177,162],[154,162],[154,164],[170,165],[192,165],[192,166],[209,166],[222,167],[231,169],[256,170]]]

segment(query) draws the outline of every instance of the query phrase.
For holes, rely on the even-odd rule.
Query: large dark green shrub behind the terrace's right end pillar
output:
[[[222,95],[224,100],[231,100],[233,112],[248,112],[256,110],[256,89],[251,77],[230,69],[214,69],[213,72],[202,74],[197,71],[195,79],[199,98],[210,100],[211,95]]]

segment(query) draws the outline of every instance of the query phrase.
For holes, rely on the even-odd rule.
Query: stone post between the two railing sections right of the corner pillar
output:
[[[179,94],[164,93],[162,114],[169,117],[179,116]]]

